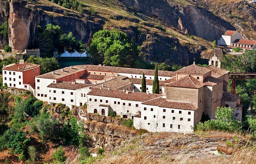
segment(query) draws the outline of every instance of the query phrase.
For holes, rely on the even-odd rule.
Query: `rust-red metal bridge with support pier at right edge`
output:
[[[230,73],[229,79],[232,79],[232,89],[231,93],[236,94],[236,80],[237,79],[254,79],[256,78],[256,73]]]

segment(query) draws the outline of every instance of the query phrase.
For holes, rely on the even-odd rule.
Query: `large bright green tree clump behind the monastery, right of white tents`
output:
[[[89,52],[94,64],[133,67],[139,50],[127,34],[115,30],[100,30],[93,35]]]

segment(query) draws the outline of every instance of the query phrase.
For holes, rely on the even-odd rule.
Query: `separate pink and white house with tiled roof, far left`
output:
[[[2,68],[3,84],[8,87],[26,89],[35,93],[35,77],[40,75],[40,65],[24,63],[9,64]]]

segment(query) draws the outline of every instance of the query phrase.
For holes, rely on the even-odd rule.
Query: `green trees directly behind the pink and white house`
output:
[[[48,72],[51,72],[60,68],[60,64],[55,57],[42,58],[42,57],[29,56],[29,58],[27,59],[27,62],[32,64],[40,64],[40,74],[46,74]]]

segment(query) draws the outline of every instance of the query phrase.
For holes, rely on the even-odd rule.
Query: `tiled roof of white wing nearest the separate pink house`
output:
[[[72,84],[72,82],[58,82],[58,83],[51,83],[47,87],[76,90],[76,89],[86,88],[90,86],[92,86],[92,84],[82,84],[82,83]]]

